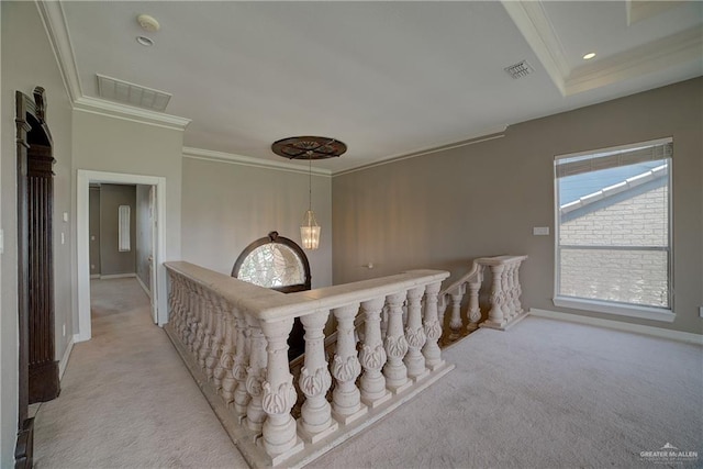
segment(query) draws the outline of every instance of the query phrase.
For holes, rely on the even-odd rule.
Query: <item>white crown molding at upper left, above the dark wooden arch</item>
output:
[[[58,69],[71,101],[82,97],[78,66],[66,25],[66,15],[59,1],[36,1],[36,9],[42,18],[46,36],[52,44]]]

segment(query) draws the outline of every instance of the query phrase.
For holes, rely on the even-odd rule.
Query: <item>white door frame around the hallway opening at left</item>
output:
[[[154,263],[156,275],[156,323],[163,326],[168,322],[166,305],[166,178],[160,176],[129,175],[78,169],[76,185],[76,268],[78,273],[78,334],[75,342],[90,340],[90,230],[89,200],[91,182],[143,185],[156,188],[156,232],[153,233],[156,249]]]

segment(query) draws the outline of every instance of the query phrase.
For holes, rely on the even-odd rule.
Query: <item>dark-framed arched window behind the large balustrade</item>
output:
[[[294,241],[270,232],[249,244],[237,257],[232,277],[282,293],[310,290],[310,263]],[[304,330],[299,319],[288,338],[288,358],[305,351]]]

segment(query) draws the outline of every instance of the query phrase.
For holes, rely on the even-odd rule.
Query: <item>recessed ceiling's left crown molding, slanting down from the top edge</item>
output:
[[[563,46],[540,1],[501,0],[503,8],[527,41],[547,75],[561,92],[567,96],[565,77],[570,74]]]

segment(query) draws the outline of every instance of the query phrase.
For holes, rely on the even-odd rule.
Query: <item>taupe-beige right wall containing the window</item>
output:
[[[527,254],[521,272],[527,308],[556,308],[553,163],[556,155],[672,136],[673,324],[625,322],[702,332],[703,79],[509,127],[502,138],[333,178],[334,282],[409,268],[453,277],[475,257]],[[372,261],[375,269],[362,266]]]

